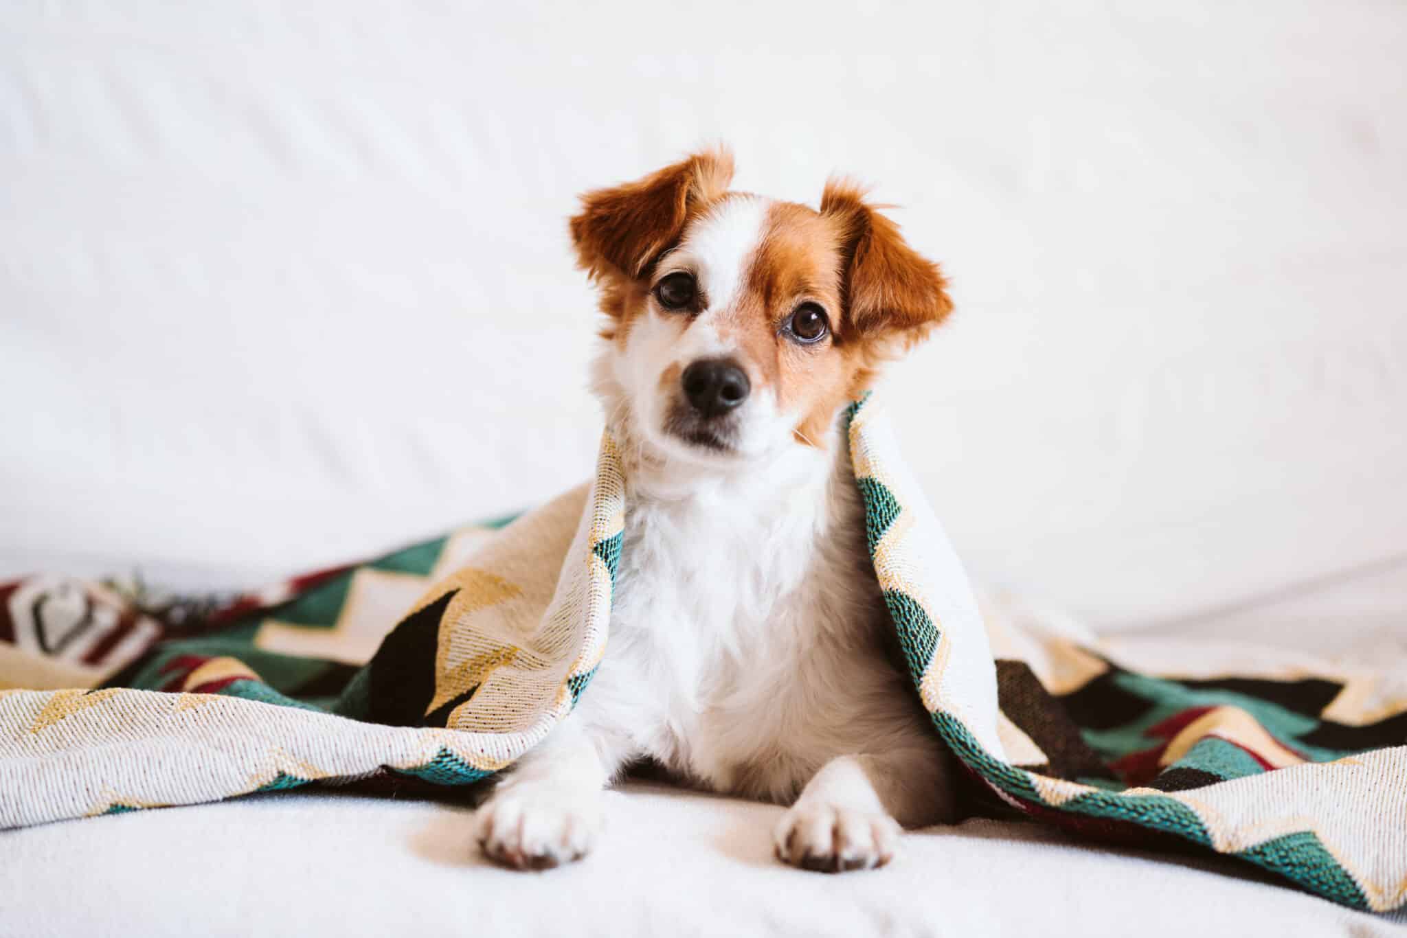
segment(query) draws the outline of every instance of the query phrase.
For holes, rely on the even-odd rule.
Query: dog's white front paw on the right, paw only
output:
[[[777,859],[825,873],[874,869],[893,859],[900,835],[888,814],[799,802],[777,824]]]

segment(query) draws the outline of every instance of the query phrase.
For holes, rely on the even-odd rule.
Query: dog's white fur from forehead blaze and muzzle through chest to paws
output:
[[[657,273],[695,271],[708,309],[681,322],[651,305],[597,361],[629,480],[611,640],[577,710],[480,810],[485,852],[512,866],[585,852],[599,789],[642,758],[712,790],[795,802],[775,847],[796,865],[881,865],[895,818],[951,813],[947,757],[885,654],[891,626],[837,428],[802,446],[799,415],[763,390],[739,408],[732,453],[664,430],[678,388],[661,375],[737,353],[711,314],[734,301],[765,203],[729,205]]]

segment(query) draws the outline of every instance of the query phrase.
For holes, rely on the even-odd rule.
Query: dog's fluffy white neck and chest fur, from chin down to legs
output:
[[[597,390],[620,450],[626,518],[613,674],[592,706],[670,771],[715,790],[794,797],[822,752],[857,744],[839,738],[843,724],[798,730],[829,727],[816,707],[844,699],[840,675],[896,681],[882,664],[884,599],[839,413],[820,446],[789,443],[730,467],[651,449],[632,430],[629,399],[608,383]],[[632,690],[613,700],[618,685]],[[785,758],[779,740],[792,740]]]

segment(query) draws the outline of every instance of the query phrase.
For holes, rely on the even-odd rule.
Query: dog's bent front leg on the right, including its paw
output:
[[[909,750],[832,759],[777,824],[777,858],[832,873],[884,866],[899,848],[900,823],[953,818],[947,758]]]

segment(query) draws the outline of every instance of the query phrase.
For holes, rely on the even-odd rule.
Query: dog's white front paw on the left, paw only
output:
[[[601,830],[601,793],[504,785],[474,816],[478,847],[495,863],[550,869],[581,859]]]

